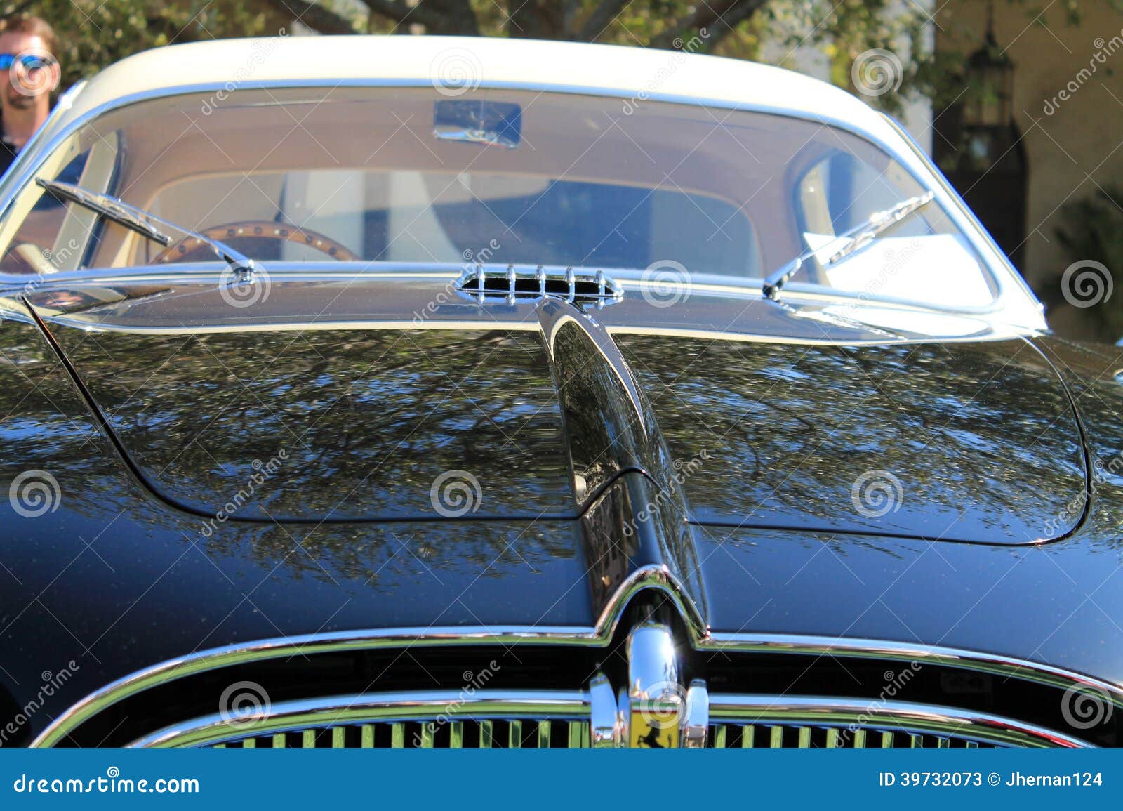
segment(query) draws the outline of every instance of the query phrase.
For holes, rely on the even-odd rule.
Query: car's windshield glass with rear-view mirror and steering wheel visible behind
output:
[[[677,265],[759,286],[805,256],[787,290],[952,307],[995,292],[938,204],[847,250],[841,235],[928,190],[862,138],[760,112],[553,92],[247,89],[106,113],[40,176],[264,263]],[[35,184],[0,244],[7,273],[219,261],[201,239],[165,245]]]

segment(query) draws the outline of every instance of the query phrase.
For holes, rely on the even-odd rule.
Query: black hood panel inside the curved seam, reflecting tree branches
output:
[[[310,293],[271,301],[296,312]],[[51,330],[141,480],[220,520],[576,517],[629,470],[699,525],[1029,544],[1080,519],[1077,420],[1021,338],[919,340],[756,300],[702,336],[634,297],[595,313],[597,346],[532,303],[403,324],[351,293],[363,319],[294,328],[229,307],[216,326],[208,297]],[[199,324],[153,329],[168,301]]]

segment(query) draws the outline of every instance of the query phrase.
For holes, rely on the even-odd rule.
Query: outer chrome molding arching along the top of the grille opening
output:
[[[630,593],[629,593],[630,592]],[[617,592],[618,611],[608,618],[608,625],[584,627],[506,626],[502,628],[445,627],[445,628],[385,628],[371,630],[308,634],[295,637],[276,637],[199,650],[136,671],[97,690],[60,714],[40,732],[30,746],[55,746],[71,730],[108,707],[148,687],[182,678],[195,673],[228,665],[271,658],[318,653],[355,650],[364,648],[409,647],[414,645],[588,645],[605,647],[612,639],[620,613],[634,591]],[[608,611],[606,611],[608,613]],[[877,639],[844,639],[837,637],[800,636],[785,634],[705,634],[688,625],[691,644],[699,650],[739,653],[788,653],[804,656],[846,656],[879,658],[897,662],[922,662],[1019,678],[1047,686],[1098,690],[1123,708],[1123,687],[1066,671],[1010,656],[985,654],[960,648],[923,646]]]

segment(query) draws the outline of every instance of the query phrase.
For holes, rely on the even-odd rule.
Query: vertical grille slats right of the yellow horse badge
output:
[[[974,749],[992,744],[962,736],[923,735],[876,727],[839,729],[798,725],[718,723],[710,727],[715,749]]]

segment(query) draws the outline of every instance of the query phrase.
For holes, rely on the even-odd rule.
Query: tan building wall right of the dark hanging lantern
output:
[[[1013,113],[1029,161],[1020,270],[1037,288],[1086,258],[1069,256],[1057,240],[1061,207],[1093,195],[1097,185],[1123,185],[1123,13],[1108,0],[1081,0],[1081,20],[1070,25],[1063,6],[1038,15],[1040,3],[994,3],[995,38],[1015,62]],[[986,8],[980,0],[949,0],[935,17],[937,49],[966,55],[979,47]],[[1117,294],[1123,299],[1123,290]],[[1090,337],[1081,311],[1061,306],[1049,315],[1058,331]]]

